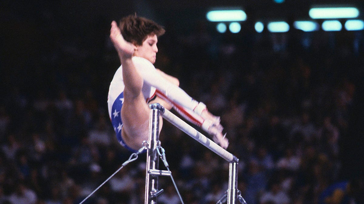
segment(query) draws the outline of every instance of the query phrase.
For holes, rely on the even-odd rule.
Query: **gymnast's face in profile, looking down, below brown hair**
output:
[[[141,46],[136,46],[134,55],[138,57],[143,57],[149,60],[151,63],[155,63],[155,56],[158,52],[157,48],[157,35],[148,36]]]

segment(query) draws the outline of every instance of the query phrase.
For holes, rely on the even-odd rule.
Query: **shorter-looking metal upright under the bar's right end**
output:
[[[229,164],[229,188],[227,189],[227,204],[235,204],[238,200],[238,163]]]

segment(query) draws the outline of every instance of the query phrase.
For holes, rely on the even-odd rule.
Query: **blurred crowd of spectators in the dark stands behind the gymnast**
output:
[[[343,174],[363,33],[245,29],[217,34],[198,23],[180,33],[167,24],[155,66],[221,116],[248,204],[324,203],[335,199],[325,197],[332,185],[347,183],[353,188],[343,190],[345,198],[363,202],[363,180]],[[80,203],[129,158],[107,113],[119,61],[103,31],[91,51],[59,42],[41,62],[12,62],[23,71],[13,72],[3,60],[1,203]],[[160,140],[184,203],[223,197],[228,162],[168,122]],[[145,159],[139,155],[85,203],[143,203]],[[159,188],[158,203],[179,203],[170,178],[160,177]]]

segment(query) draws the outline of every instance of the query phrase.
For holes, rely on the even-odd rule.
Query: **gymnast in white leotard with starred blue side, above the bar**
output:
[[[121,66],[116,70],[108,92],[108,111],[116,138],[130,151],[137,151],[149,137],[149,103],[174,108],[188,121],[206,131],[223,148],[229,142],[222,135],[220,118],[206,105],[179,88],[179,81],[154,67],[158,37],[164,28],[152,20],[130,15],[112,21],[110,39]],[[159,131],[162,129],[162,119]]]

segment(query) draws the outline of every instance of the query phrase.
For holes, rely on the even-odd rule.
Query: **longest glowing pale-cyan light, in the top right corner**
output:
[[[359,16],[355,7],[311,8],[308,12],[312,19],[348,19]]]

